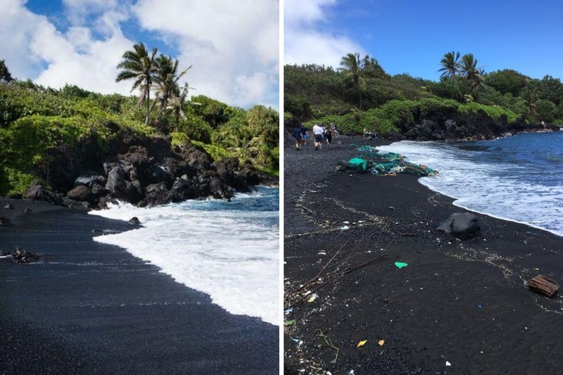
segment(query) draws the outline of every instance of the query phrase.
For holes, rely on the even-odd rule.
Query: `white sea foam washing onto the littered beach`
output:
[[[402,141],[378,149],[401,153],[412,163],[438,170],[439,175],[420,178],[420,183],[455,198],[454,204],[459,207],[563,236],[561,181],[529,178],[531,174],[552,173],[542,170],[542,165],[530,168],[510,155],[491,163],[487,158],[480,158],[479,153],[492,153],[492,150],[464,150],[447,143]]]

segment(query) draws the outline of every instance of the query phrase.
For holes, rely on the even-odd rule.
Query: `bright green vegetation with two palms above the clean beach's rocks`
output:
[[[117,80],[131,79],[138,98],[14,80],[0,60],[0,195],[49,180],[49,167],[61,156],[84,149],[103,154],[120,137],[168,137],[173,146],[194,145],[215,160],[238,158],[278,175],[278,113],[206,96],[188,101],[188,85],[178,86],[178,79],[189,68],[178,71],[177,60],[156,53],[136,44],[118,66]]]

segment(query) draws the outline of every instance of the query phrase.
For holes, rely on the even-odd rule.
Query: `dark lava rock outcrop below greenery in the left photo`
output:
[[[275,184],[252,165],[235,158],[215,163],[205,150],[172,148],[171,138],[148,138],[108,123],[117,136],[103,145],[96,134],[84,145],[59,153],[44,180],[58,192],[34,183],[22,196],[72,207],[105,207],[109,202],[163,205],[188,199],[230,199],[260,183]],[[81,140],[82,141],[82,140]],[[55,181],[55,179],[57,179]]]

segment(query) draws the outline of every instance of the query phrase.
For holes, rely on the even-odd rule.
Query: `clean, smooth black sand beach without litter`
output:
[[[3,208],[8,201],[14,210]],[[0,227],[0,250],[40,256],[0,259],[0,374],[278,373],[278,327],[228,314],[158,267],[92,240],[92,230],[130,230],[127,222],[0,203],[13,223]]]

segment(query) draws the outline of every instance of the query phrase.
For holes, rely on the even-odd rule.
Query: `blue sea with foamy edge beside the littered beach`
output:
[[[379,150],[439,175],[421,178],[455,205],[563,236],[563,131],[474,142],[401,141]]]

